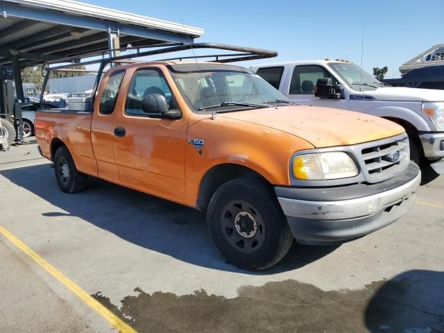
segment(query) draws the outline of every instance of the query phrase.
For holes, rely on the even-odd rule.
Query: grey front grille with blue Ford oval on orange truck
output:
[[[409,164],[409,139],[391,139],[370,142],[361,150],[361,157],[370,182],[379,182],[404,171]]]

